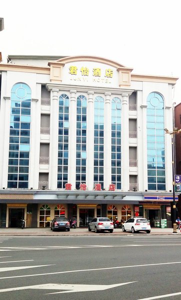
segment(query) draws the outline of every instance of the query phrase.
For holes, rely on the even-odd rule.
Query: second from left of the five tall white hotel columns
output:
[[[75,173],[76,173],[76,90],[70,89],[68,183],[71,183],[71,189],[75,189]]]

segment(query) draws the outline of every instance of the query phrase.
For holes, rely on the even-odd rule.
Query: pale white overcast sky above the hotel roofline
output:
[[[8,54],[95,55],[133,73],[180,77],[180,0],[2,0],[3,62]]]

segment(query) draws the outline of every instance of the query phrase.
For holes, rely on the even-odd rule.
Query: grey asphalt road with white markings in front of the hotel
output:
[[[180,246],[180,235],[0,236],[0,299],[180,300]]]

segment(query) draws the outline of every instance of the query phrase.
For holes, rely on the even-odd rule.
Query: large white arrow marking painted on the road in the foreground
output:
[[[109,285],[94,285],[94,284],[57,284],[57,283],[46,283],[46,284],[38,284],[38,285],[27,285],[27,286],[19,286],[12,288],[3,288],[0,289],[0,292],[4,291],[12,291],[12,290],[22,290],[22,289],[66,289],[65,291],[51,292],[48,294],[54,293],[67,293],[67,292],[78,292],[78,291],[91,291],[91,290],[105,290],[108,288],[129,284],[137,281],[130,281],[118,284],[109,284]]]

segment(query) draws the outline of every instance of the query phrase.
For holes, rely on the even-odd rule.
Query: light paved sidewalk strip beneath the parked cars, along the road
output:
[[[7,236],[7,235],[45,235],[45,236],[56,236],[56,235],[98,235],[98,234],[108,234],[108,235],[132,235],[132,232],[122,232],[122,229],[115,228],[113,233],[99,232],[95,233],[94,231],[89,232],[88,228],[71,228],[70,231],[53,231],[50,228],[2,228],[0,227],[0,236]],[[144,235],[145,232],[136,233],[136,235]],[[173,233],[173,228],[151,228],[150,234],[146,235],[177,235],[180,236],[181,232],[177,229],[177,233]]]

